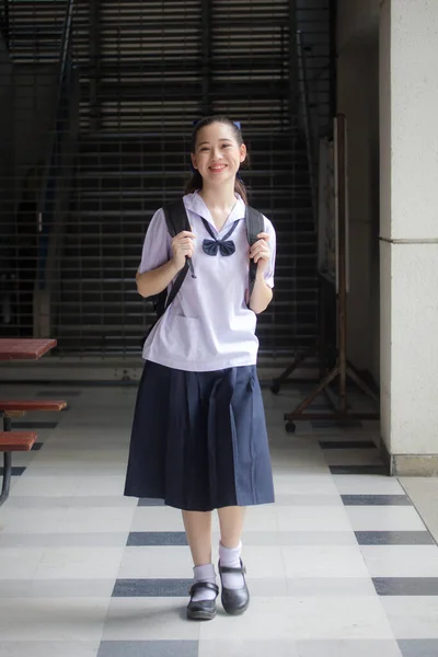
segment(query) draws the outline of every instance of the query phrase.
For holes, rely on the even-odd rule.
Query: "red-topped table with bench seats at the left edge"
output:
[[[4,452],[0,506],[9,497],[12,475],[12,452],[30,451],[37,438],[34,431],[13,431],[12,418],[21,417],[27,411],[62,411],[66,407],[67,402],[61,400],[0,400],[0,416],[3,417],[3,431],[0,431],[0,451]]]

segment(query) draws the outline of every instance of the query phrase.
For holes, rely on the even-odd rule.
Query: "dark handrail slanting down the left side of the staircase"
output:
[[[59,54],[59,73],[58,73],[58,84],[57,84],[57,93],[54,103],[53,118],[51,118],[51,129],[49,131],[48,147],[46,152],[46,158],[44,161],[43,168],[43,177],[42,177],[42,186],[39,193],[39,200],[37,207],[37,218],[38,218],[38,232],[43,232],[43,214],[46,205],[47,191],[49,186],[49,170],[50,170],[50,161],[54,154],[55,149],[55,140],[57,137],[57,123],[59,116],[59,108],[62,99],[62,85],[67,71],[68,56],[70,53],[71,45],[71,32],[72,32],[72,21],[73,21],[73,9],[74,9],[74,0],[68,0],[67,10],[66,10],[66,19],[62,27],[62,37],[61,37],[61,47]]]

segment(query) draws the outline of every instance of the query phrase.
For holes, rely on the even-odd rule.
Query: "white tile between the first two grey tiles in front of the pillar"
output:
[[[346,507],[355,531],[425,531],[413,507]]]

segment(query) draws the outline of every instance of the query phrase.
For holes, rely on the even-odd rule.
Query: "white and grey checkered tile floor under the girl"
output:
[[[286,434],[304,393],[264,391],[277,500],[247,511],[251,607],[199,624],[180,512],[122,494],[136,389],[14,385],[70,407],[14,425],[39,438],[0,509],[0,657],[437,657],[438,548],[377,424]],[[215,561],[218,540],[215,520]]]

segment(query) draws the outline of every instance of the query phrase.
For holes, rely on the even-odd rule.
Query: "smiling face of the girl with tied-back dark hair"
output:
[[[234,178],[246,158],[246,147],[239,146],[233,129],[227,124],[214,123],[198,131],[192,163],[210,183],[223,183]]]

